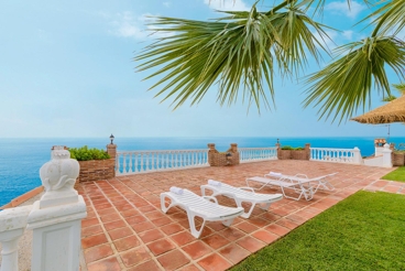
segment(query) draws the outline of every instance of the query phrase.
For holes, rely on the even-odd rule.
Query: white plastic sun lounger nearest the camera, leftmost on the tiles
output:
[[[171,204],[166,207],[165,199],[169,198]],[[210,202],[212,199],[215,203]],[[227,207],[218,205],[217,198],[212,196],[200,197],[197,194],[178,187],[171,187],[169,192],[164,192],[161,194],[161,207],[164,213],[174,206],[178,206],[186,210],[188,223],[190,226],[191,235],[196,238],[202,232],[206,221],[222,221],[225,226],[230,226],[233,219],[241,216],[244,212],[242,207]],[[197,230],[195,225],[195,217],[202,218],[202,225],[199,230]]]

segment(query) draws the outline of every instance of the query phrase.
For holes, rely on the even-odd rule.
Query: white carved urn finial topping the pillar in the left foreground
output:
[[[54,147],[51,152],[51,161],[40,169],[41,181],[45,187],[40,208],[76,203],[78,194],[74,185],[79,171],[79,163],[70,159],[70,152],[65,147]]]

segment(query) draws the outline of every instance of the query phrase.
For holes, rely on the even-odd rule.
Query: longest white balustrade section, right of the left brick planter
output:
[[[204,167],[208,150],[118,151],[116,175]]]

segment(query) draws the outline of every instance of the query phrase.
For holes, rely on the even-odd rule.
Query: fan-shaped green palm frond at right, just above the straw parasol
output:
[[[338,47],[337,58],[324,69],[310,75],[308,97],[304,107],[320,107],[320,118],[340,115],[340,122],[348,119],[359,107],[370,107],[370,94],[374,83],[383,95],[391,95],[385,65],[404,78],[405,44],[395,37],[365,39]]]

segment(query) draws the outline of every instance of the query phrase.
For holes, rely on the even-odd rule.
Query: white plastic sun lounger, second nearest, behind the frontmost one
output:
[[[242,207],[243,202],[251,203],[252,205],[249,212],[243,213],[243,218],[250,217],[256,204],[259,204],[262,209],[267,210],[272,203],[283,199],[282,194],[259,194],[254,193],[254,189],[251,187],[234,187],[214,180],[208,180],[208,184],[201,185],[202,196],[206,195],[206,189],[212,191],[211,196],[223,195],[233,198],[238,207]]]

